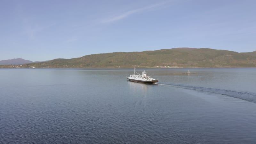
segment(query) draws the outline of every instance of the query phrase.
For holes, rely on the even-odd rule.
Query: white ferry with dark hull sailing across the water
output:
[[[135,71],[135,68],[134,68],[134,74],[130,75],[130,77],[127,77],[127,79],[133,82],[142,82],[142,83],[150,83],[150,84],[154,84],[158,82],[158,79],[156,80],[152,76],[148,76],[148,72],[145,72],[145,70],[142,72],[142,75],[140,75]]]

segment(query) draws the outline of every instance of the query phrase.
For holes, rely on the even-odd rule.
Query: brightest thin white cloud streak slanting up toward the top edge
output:
[[[139,13],[139,12],[143,12],[143,11],[147,11],[147,10],[151,10],[153,8],[156,8],[156,7],[159,7],[159,6],[162,6],[166,3],[168,3],[170,1],[165,1],[165,2],[162,2],[162,3],[158,3],[158,4],[153,4],[153,5],[148,5],[146,7],[142,7],[142,8],[139,8],[139,9],[135,9],[135,10],[131,10],[131,11],[128,11],[128,12],[124,12],[123,14],[120,14],[118,16],[115,16],[115,17],[112,17],[112,18],[109,18],[107,20],[103,20],[102,23],[109,23],[109,22],[114,22],[114,21],[117,21],[117,20],[122,20],[132,14],[135,14],[135,13]]]

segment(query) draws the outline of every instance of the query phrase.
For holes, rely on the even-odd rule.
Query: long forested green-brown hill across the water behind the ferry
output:
[[[208,48],[173,48],[144,52],[113,52],[25,64],[36,68],[132,68],[132,67],[256,67],[256,51],[232,52]]]

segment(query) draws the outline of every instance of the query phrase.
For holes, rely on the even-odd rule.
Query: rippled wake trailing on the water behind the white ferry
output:
[[[210,92],[214,94],[221,94],[233,98],[242,99],[245,101],[256,103],[256,93],[253,92],[241,92],[241,91],[233,91],[233,90],[225,90],[225,89],[215,89],[215,88],[207,88],[207,87],[197,87],[191,85],[183,85],[183,84],[164,84],[164,83],[156,83],[158,85],[167,85],[172,87],[179,87],[189,90],[195,90],[199,92]]]

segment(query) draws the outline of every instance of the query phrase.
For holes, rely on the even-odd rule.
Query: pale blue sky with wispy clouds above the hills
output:
[[[0,60],[177,47],[256,51],[255,0],[0,0]]]

